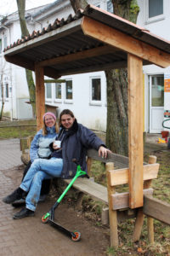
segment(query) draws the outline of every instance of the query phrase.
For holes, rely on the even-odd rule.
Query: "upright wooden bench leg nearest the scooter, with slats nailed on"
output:
[[[106,163],[105,171],[107,174],[107,189],[108,189],[108,203],[109,203],[109,219],[110,219],[110,236],[111,236],[111,247],[118,247],[118,233],[117,233],[117,214],[116,211],[112,210],[111,195],[115,194],[115,188],[111,187],[109,178],[109,171],[114,169],[113,163]]]

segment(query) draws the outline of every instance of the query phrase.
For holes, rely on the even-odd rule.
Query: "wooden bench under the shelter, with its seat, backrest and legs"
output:
[[[27,141],[28,146],[31,144],[31,138]],[[28,151],[26,151],[28,154]],[[130,209],[129,193],[116,193],[116,186],[128,184],[128,158],[119,154],[110,153],[107,159],[99,157],[98,151],[88,149],[87,166],[88,175],[91,175],[91,166],[93,160],[99,160],[105,163],[105,174],[107,176],[107,187],[95,183],[91,178],[78,177],[76,182],[72,185],[73,188],[80,191],[77,205],[82,204],[82,197],[84,194],[90,195],[94,200],[102,201],[108,205],[108,211],[104,211],[103,224],[105,219],[109,218],[111,231],[111,246],[118,246],[118,232],[117,224],[126,218],[136,217],[135,226],[133,230],[133,241],[138,241],[141,234],[142,225],[144,221],[143,209]],[[116,169],[115,169],[116,168]],[[153,194],[153,189],[150,184],[153,178],[157,177],[159,164],[156,164],[156,156],[150,156],[149,164],[144,163],[144,197]],[[71,179],[65,179],[65,183],[70,183]],[[106,217],[108,215],[108,217]],[[153,241],[153,219],[148,217],[148,236],[149,241]]]

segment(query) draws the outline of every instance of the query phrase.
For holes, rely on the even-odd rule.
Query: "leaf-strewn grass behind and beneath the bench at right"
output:
[[[167,201],[170,203],[170,169],[169,169],[169,158],[170,152],[167,150],[161,150],[154,152],[157,156],[157,162],[160,163],[158,178],[152,181],[152,188],[154,189],[154,197],[159,200]],[[147,161],[148,154],[145,154],[144,160]],[[95,182],[101,183],[106,186],[105,177],[105,166],[104,164],[94,161],[91,176],[94,177]],[[128,186],[119,186],[116,189],[117,192],[128,191]],[[87,209],[88,206],[88,209]],[[97,209],[98,213],[95,212],[93,217],[96,223],[99,225],[99,207],[103,207],[101,202],[89,200],[89,198],[84,201],[84,210],[88,213],[88,218],[90,218],[90,213],[93,213],[94,209]],[[140,240],[138,242],[132,241],[134,227],[134,218],[127,219],[118,225],[118,235],[120,246],[118,248],[108,247],[108,256],[118,256],[118,255],[144,255],[144,256],[170,256],[170,226],[163,224],[160,221],[154,219],[154,231],[155,231],[155,242],[150,245],[147,237],[147,221],[144,218],[144,225],[141,233]],[[109,230],[109,226],[108,226]]]

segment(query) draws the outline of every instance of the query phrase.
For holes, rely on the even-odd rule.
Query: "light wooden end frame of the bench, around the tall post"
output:
[[[156,156],[150,156],[149,164],[144,165],[144,197],[152,195],[153,189],[150,189],[150,184],[153,178],[157,177],[159,164],[156,164]],[[114,166],[109,163],[106,165],[107,172],[107,188],[109,201],[109,216],[110,216],[110,232],[111,232],[111,246],[118,246],[118,232],[117,232],[117,212],[125,209],[129,204],[129,193],[116,194],[116,186],[128,183],[128,168],[114,170]],[[144,213],[143,207],[135,209],[136,220],[133,230],[133,241],[138,241],[143,221]],[[148,236],[149,241],[154,241],[153,219],[148,217]]]

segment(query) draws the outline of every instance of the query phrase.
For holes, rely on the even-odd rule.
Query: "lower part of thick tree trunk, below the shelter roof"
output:
[[[116,154],[127,155],[127,69],[105,72],[107,79],[106,145]]]

